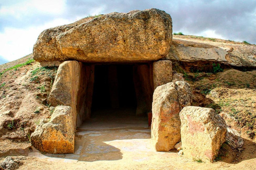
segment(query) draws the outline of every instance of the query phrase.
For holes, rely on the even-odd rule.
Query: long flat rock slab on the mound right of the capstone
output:
[[[204,44],[205,43],[205,44]],[[253,45],[228,44],[194,39],[173,39],[166,57],[181,62],[219,62],[233,66],[256,66],[256,47]]]

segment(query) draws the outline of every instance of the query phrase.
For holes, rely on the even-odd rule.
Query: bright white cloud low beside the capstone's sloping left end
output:
[[[8,61],[17,60],[33,52],[33,46],[43,30],[58,25],[68,24],[71,21],[56,19],[38,27],[28,27],[26,29],[5,28],[0,33],[0,56]]]

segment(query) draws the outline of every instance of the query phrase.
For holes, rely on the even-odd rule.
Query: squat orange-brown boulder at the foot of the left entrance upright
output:
[[[38,150],[50,154],[70,154],[74,152],[75,131],[70,106],[57,106],[51,120],[37,126],[31,134],[31,143]]]

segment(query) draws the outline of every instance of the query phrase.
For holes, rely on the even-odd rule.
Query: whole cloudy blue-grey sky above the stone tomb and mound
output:
[[[0,64],[32,53],[47,28],[148,8],[169,13],[173,32],[256,44],[255,0],[0,0]]]

